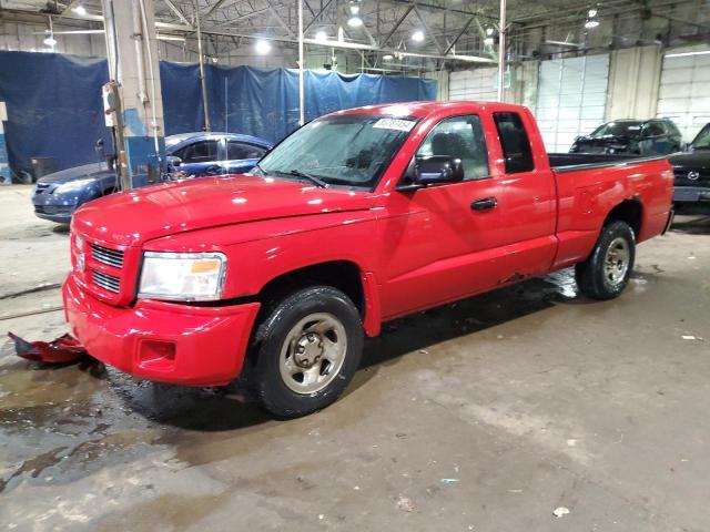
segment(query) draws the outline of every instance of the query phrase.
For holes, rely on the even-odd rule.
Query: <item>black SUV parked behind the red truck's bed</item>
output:
[[[681,146],[682,135],[670,120],[615,120],[578,136],[569,153],[666,155]]]

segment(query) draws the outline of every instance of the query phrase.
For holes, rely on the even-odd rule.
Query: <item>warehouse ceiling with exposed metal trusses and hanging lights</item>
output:
[[[710,34],[709,0],[507,3],[513,60],[592,45],[670,44],[663,39],[671,34],[693,39]],[[0,0],[0,6],[67,20],[101,20],[100,0]],[[281,50],[294,49],[297,42],[295,0],[154,0],[154,7],[162,34],[193,39],[200,24],[214,57],[258,40],[276,43]],[[346,50],[362,54],[369,65],[387,60],[435,68],[444,60],[452,68],[496,62],[498,0],[304,0],[303,10],[310,49]],[[608,27],[591,32],[591,38],[586,27],[590,14]]]

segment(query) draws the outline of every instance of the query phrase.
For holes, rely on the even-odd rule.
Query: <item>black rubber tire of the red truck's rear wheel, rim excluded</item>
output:
[[[626,242],[628,256],[623,275],[615,278],[615,274],[609,273],[609,268],[615,262],[607,262],[607,259],[611,258],[608,256],[610,247],[613,246],[617,253],[619,250],[622,252],[623,245],[620,241]],[[575,267],[575,278],[579,290],[592,299],[604,300],[619,296],[629,284],[635,258],[636,238],[633,229],[625,222],[611,222],[601,229],[599,239],[589,258]]]

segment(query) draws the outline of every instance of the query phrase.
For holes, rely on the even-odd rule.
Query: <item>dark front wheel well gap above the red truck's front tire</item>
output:
[[[359,267],[348,260],[314,264],[283,274],[264,285],[257,299],[263,305],[281,300],[286,294],[310,285],[327,285],[351,298],[361,316],[365,313],[365,296]]]

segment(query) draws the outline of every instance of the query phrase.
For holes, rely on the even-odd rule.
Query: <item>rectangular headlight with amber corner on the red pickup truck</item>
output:
[[[220,299],[225,273],[222,253],[145,252],[138,295],[183,301]]]

